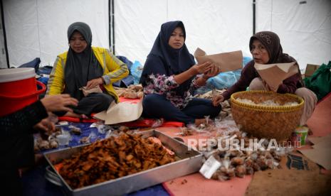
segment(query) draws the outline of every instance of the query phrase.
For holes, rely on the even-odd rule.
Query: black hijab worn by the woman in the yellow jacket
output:
[[[101,77],[103,75],[103,67],[101,67],[100,62],[95,58],[91,48],[92,32],[90,26],[82,22],[72,23],[68,28],[69,43],[71,36],[73,36],[73,33],[76,31],[82,34],[88,45],[82,53],[75,53],[75,51],[69,47],[64,70],[64,92],[80,100],[83,97],[83,93],[79,88],[85,87],[89,80]]]

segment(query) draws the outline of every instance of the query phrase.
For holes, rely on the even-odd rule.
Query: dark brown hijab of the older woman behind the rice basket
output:
[[[264,45],[269,54],[269,61],[267,64],[273,63],[285,63],[285,62],[296,62],[295,58],[288,54],[283,53],[282,45],[280,45],[280,39],[276,33],[271,31],[261,31],[253,36],[249,40],[249,49],[252,51],[253,40],[259,40]],[[300,67],[298,62],[296,63],[298,67],[298,75],[300,75],[300,85],[303,87],[303,78],[301,77]]]

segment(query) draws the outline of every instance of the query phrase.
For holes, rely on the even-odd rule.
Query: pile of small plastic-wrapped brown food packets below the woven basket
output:
[[[229,134],[231,138],[236,138],[238,141],[243,142],[238,143],[238,146],[244,146],[247,148],[249,146],[249,139],[246,133],[241,131],[233,131]],[[229,137],[224,137],[221,141],[221,146],[225,146],[226,139]],[[253,138],[251,138],[253,139]],[[234,176],[243,178],[244,175],[251,175],[258,170],[273,169],[279,167],[279,162],[281,156],[284,156],[286,151],[290,151],[290,148],[275,148],[268,149],[269,141],[265,140],[258,146],[257,149],[253,151],[241,151],[240,148],[222,150],[222,148],[217,148],[208,152],[204,152],[206,159],[209,156],[214,156],[216,160],[221,163],[221,166],[214,172],[211,176],[214,180],[230,180]],[[267,150],[268,149],[268,150]]]

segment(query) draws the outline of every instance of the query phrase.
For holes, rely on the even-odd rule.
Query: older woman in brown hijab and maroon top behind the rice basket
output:
[[[260,64],[296,62],[290,55],[283,53],[277,34],[270,31],[262,31],[253,35],[249,41],[249,49],[253,55],[253,60],[243,68],[241,77],[236,84],[223,94],[213,97],[214,105],[229,99],[234,92],[246,90],[248,86],[250,90],[271,90],[258,75],[254,67],[255,62]],[[298,66],[298,73],[283,80],[283,84],[278,87],[277,92],[296,94],[305,99],[303,115],[300,119],[300,125],[305,125],[315,109],[317,97],[314,92],[304,87],[298,63],[296,65]]]

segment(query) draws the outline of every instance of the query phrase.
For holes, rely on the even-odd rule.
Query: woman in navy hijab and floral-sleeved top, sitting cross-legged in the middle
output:
[[[205,123],[204,116],[214,118],[221,111],[221,106],[214,107],[211,100],[191,96],[219,69],[210,62],[195,65],[185,38],[182,21],[162,24],[140,78],[145,94],[143,116],[199,125]],[[203,75],[196,77],[199,74]]]

